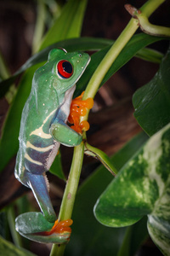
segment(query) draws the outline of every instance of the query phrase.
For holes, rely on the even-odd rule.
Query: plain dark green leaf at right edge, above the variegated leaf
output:
[[[150,136],[170,122],[170,49],[150,83],[133,95],[134,117]]]

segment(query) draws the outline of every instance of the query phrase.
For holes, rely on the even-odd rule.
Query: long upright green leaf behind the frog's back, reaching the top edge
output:
[[[82,20],[83,11],[82,11],[82,2],[85,3],[86,1],[82,0],[71,0],[67,4],[73,4],[71,9],[65,8],[62,11],[62,14],[59,16],[59,20],[56,20],[54,22],[54,26],[50,30],[54,32],[54,27],[57,29],[59,26],[59,31],[62,32],[62,38],[70,38],[71,36],[73,38],[79,36],[79,28],[82,26],[79,22],[71,22],[71,17],[74,20],[75,15],[75,9],[81,8],[81,12],[77,15],[80,15],[78,20]],[[83,5],[85,8],[85,5]],[[66,13],[66,14],[65,14]],[[70,26],[66,26],[65,28],[65,20],[62,20],[62,16],[67,16],[67,19],[70,20]],[[57,26],[55,26],[57,23]],[[48,35],[44,39],[43,44],[51,44],[51,34],[50,30],[48,32]],[[60,40],[60,32],[55,31],[55,42],[58,42]],[[11,159],[14,154],[16,154],[18,149],[18,136],[19,136],[19,130],[20,130],[20,117],[21,112],[24,107],[24,104],[26,102],[26,98],[29,96],[30,90],[31,90],[31,80],[33,77],[33,73],[37,70],[38,67],[40,67],[40,64],[37,64],[34,67],[30,67],[27,72],[23,75],[18,92],[14,98],[14,102],[11,106],[11,108],[8,111],[8,116],[5,120],[5,124],[3,125],[3,134],[0,141],[0,154],[1,154],[1,166],[0,171],[3,170],[4,166],[7,165],[8,160]]]

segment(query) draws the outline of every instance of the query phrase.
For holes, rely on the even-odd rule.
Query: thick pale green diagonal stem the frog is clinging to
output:
[[[145,15],[150,16],[152,12],[154,12],[155,9],[157,9],[158,6],[161,5],[161,3],[163,3],[164,1],[165,0],[149,0],[147,3],[144,4],[141,10],[144,12]],[[104,59],[100,62],[99,66],[95,70],[85,90],[83,100],[87,99],[88,97],[94,98],[95,94],[99,90],[99,85],[105,77],[105,74],[108,72],[112,63],[116,60],[116,57],[120,54],[124,46],[130,40],[130,38],[132,38],[134,32],[136,32],[138,27],[138,20],[132,18],[119,36],[119,38],[116,39],[115,44],[112,45],[111,49],[107,52]],[[85,117],[81,118],[81,121],[84,119],[88,119],[88,113]],[[86,134],[83,134],[83,139],[85,137]],[[74,148],[71,172],[65,187],[65,194],[59,211],[59,220],[71,218],[71,213],[74,206],[77,187],[79,183],[79,177],[82,170],[83,153],[83,143]],[[53,245],[50,256],[62,256],[64,255],[64,252],[65,244]]]

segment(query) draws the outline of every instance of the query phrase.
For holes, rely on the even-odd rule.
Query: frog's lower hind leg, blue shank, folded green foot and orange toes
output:
[[[26,172],[28,185],[35,195],[42,212],[26,212],[16,218],[16,230],[22,236],[39,242],[63,243],[71,236],[72,220],[59,222],[48,195],[48,185],[44,175]],[[43,214],[42,214],[43,213]]]

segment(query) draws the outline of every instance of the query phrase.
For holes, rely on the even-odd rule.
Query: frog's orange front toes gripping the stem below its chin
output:
[[[77,96],[71,102],[71,111],[68,118],[68,121],[73,124],[71,128],[78,133],[82,133],[82,131],[88,131],[90,125],[88,121],[84,120],[80,123],[80,117],[85,116],[87,113],[87,108],[91,109],[94,106],[93,98],[88,98],[85,101],[82,101],[82,96],[84,91],[82,92],[81,96]]]

